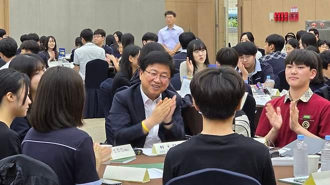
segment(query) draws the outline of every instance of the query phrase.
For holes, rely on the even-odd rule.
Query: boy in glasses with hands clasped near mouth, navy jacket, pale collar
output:
[[[275,84],[273,67],[267,62],[260,62],[256,58],[257,47],[252,42],[240,42],[235,47],[239,57],[238,72],[242,74],[244,81],[248,84],[264,83],[267,76]]]

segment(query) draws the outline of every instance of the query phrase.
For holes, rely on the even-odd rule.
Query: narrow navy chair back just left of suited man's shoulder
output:
[[[108,78],[104,80],[100,85],[104,118],[106,118],[109,115],[109,111],[112,105],[112,100],[113,100],[113,95],[111,93],[112,82],[113,82],[113,78]]]

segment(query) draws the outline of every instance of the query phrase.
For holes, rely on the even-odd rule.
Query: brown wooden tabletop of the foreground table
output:
[[[125,164],[148,164],[148,163],[162,163],[164,162],[165,156],[146,156],[144,154],[136,155],[136,159]],[[110,163],[110,165],[125,165],[122,163]],[[102,178],[106,164],[101,164],[99,170],[99,177]],[[293,165],[273,165],[276,183],[284,185],[285,183],[278,182],[279,178],[293,177]],[[129,174],[127,174],[129,175]],[[137,184],[135,182],[122,182],[123,185]],[[162,184],[161,178],[150,179],[149,182],[144,184]]]

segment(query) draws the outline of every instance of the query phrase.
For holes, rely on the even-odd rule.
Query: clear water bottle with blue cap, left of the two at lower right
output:
[[[308,151],[304,141],[304,135],[297,135],[297,144],[293,149],[293,176],[308,175]]]

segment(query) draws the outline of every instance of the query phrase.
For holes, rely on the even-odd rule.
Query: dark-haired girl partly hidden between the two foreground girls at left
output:
[[[36,93],[40,78],[46,70],[46,65],[42,58],[34,53],[19,54],[12,60],[11,64],[9,65],[9,68],[13,68],[29,76],[29,98],[31,100],[31,103],[33,103],[33,101],[36,99]],[[30,108],[28,109],[27,116],[16,117],[11,124],[11,129],[16,131],[20,135],[21,140],[24,139],[25,135],[31,128],[31,124],[29,122],[31,107],[32,106],[30,106]]]

